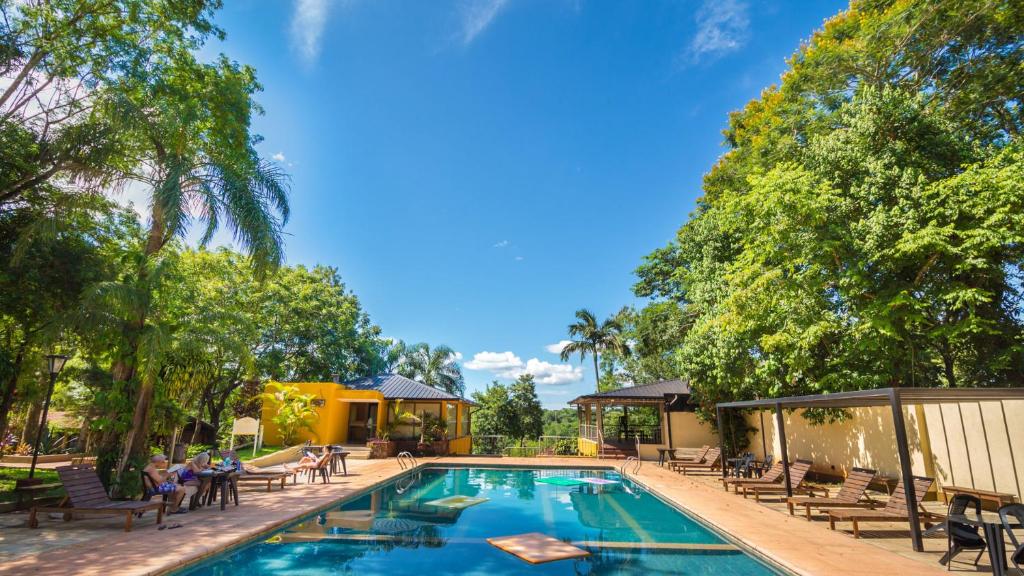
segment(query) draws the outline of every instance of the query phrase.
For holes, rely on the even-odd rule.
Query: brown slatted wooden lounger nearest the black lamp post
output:
[[[164,522],[164,503],[138,500],[111,500],[96,469],[92,466],[58,466],[57,476],[68,495],[58,506],[32,506],[29,512],[29,528],[39,528],[39,512],[63,512],[65,522],[72,515],[119,516],[125,517],[125,532],[131,532],[132,517],[146,510],[157,510],[157,524]]]

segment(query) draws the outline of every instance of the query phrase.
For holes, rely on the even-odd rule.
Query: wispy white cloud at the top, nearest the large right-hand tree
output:
[[[697,32],[686,49],[688,64],[716,59],[746,42],[749,6],[739,0],[705,0],[696,13]]]

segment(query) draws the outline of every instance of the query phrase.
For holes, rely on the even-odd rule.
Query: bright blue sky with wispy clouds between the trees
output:
[[[727,114],[844,3],[228,0],[209,47],[254,66],[292,176],[291,263],[337,266],[388,336],[459,351],[469,390],[634,303],[722,154]],[[483,354],[489,353],[489,354]]]

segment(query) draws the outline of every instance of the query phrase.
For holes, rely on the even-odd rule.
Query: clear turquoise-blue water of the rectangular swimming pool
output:
[[[552,478],[612,483],[538,482]],[[483,500],[467,507],[429,503],[451,496]],[[531,565],[486,542],[528,532],[572,542],[591,556]],[[723,543],[613,471],[427,468],[180,574],[778,574],[738,549],[700,546]]]

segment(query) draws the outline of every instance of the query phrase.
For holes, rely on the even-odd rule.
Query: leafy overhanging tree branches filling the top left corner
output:
[[[101,190],[130,155],[105,106],[153,61],[211,36],[219,1],[0,1],[0,205],[63,179]]]

